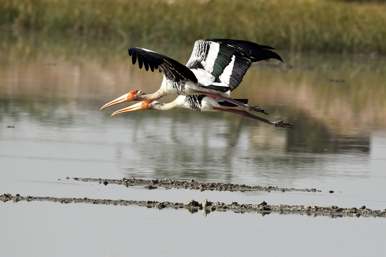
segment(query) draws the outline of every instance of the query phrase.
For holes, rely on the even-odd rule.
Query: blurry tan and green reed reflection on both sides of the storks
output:
[[[120,54],[105,52],[99,56],[104,44],[95,43],[82,50],[81,44],[74,42],[48,48],[46,41],[31,43],[12,38],[3,42],[0,94],[98,99],[102,106],[132,89],[150,93],[159,88],[162,76],[132,65],[126,49]],[[191,46],[178,48],[174,47],[183,56],[172,57],[186,62]],[[159,47],[154,50],[166,51]],[[384,58],[276,52],[285,64],[271,61],[252,65],[240,87],[232,93],[234,98],[249,98],[250,104],[267,109],[270,119],[299,124],[296,118],[307,115],[314,120],[310,122],[323,123],[342,133],[386,125]]]

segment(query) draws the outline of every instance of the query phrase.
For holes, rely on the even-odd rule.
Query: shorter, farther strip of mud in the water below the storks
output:
[[[67,179],[69,179],[67,177]],[[301,191],[301,192],[321,192],[320,190],[317,190],[315,188],[312,189],[296,189],[296,188],[280,188],[280,187],[261,187],[261,186],[247,186],[247,185],[238,185],[238,184],[229,184],[229,183],[214,183],[214,182],[196,182],[194,180],[190,181],[179,181],[179,180],[171,180],[171,179],[153,179],[153,180],[144,180],[144,179],[94,179],[94,178],[73,178],[77,181],[83,181],[83,182],[99,182],[101,184],[117,184],[117,185],[124,185],[126,187],[131,186],[143,186],[149,190],[156,189],[158,187],[162,187],[165,189],[169,188],[178,188],[178,189],[191,189],[191,190],[217,190],[217,191],[239,191],[239,192],[247,192],[247,191],[279,191],[279,192],[286,192],[286,191]]]

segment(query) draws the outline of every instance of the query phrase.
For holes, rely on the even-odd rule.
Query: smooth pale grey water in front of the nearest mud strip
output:
[[[233,212],[204,217],[183,210],[49,202],[1,206],[4,255],[374,256],[384,248],[384,218]]]

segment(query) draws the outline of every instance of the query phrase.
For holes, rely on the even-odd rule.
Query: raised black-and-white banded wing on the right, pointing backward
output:
[[[215,82],[228,84],[232,91],[240,84],[252,62],[282,61],[278,54],[270,51],[272,49],[244,40],[202,39],[196,41],[186,67],[206,70],[216,78]]]

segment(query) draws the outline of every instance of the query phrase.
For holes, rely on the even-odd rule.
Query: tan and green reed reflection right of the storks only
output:
[[[315,62],[311,69],[255,70],[245,77],[247,85],[238,97],[254,95],[261,106],[275,105],[305,113],[338,131],[363,131],[372,125],[386,125],[385,73],[368,71],[374,63],[384,70],[384,60],[363,62],[364,57],[346,57],[332,63]],[[314,59],[314,58],[312,58]],[[314,59],[315,60],[315,59]],[[351,67],[344,67],[350,62]],[[342,67],[343,65],[343,67]],[[240,87],[241,89],[241,87]],[[249,96],[249,98],[251,98]],[[295,122],[295,121],[294,121]]]

